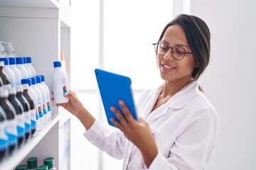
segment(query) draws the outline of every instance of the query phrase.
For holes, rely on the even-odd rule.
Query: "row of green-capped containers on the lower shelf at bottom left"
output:
[[[48,157],[43,159],[43,164],[38,165],[37,157],[31,157],[27,159],[27,164],[20,164],[16,166],[15,170],[56,170],[54,167],[54,158]]]

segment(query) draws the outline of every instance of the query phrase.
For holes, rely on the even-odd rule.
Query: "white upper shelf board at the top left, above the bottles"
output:
[[[62,26],[71,25],[71,6],[56,0],[0,1],[0,16],[14,18],[60,18]]]

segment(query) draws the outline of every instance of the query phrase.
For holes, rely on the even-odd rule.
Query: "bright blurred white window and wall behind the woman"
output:
[[[144,89],[162,83],[152,43],[166,23],[179,13],[198,16],[211,32],[211,60],[201,85],[220,118],[209,169],[255,170],[255,9],[254,0],[73,0],[70,87],[107,125],[94,69],[130,77],[137,101]],[[90,144],[84,130],[72,117],[71,169],[122,169],[122,160]]]

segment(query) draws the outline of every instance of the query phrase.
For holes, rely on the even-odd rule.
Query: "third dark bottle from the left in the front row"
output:
[[[17,91],[16,87],[11,87],[9,89],[8,100],[14,106],[16,111],[16,121],[17,121],[17,132],[18,132],[18,147],[20,147],[25,139],[25,120],[24,120],[24,109],[21,102],[18,101],[16,97]]]

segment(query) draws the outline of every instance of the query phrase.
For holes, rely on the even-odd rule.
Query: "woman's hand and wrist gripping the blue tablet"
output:
[[[139,118],[139,121],[135,120],[124,101],[119,101],[119,106],[124,115],[112,106],[110,109],[117,116],[119,122],[114,118],[110,120],[119,130],[124,132],[124,136],[128,140],[138,147],[142,152],[146,166],[149,167],[158,152],[149,124],[142,118]]]

